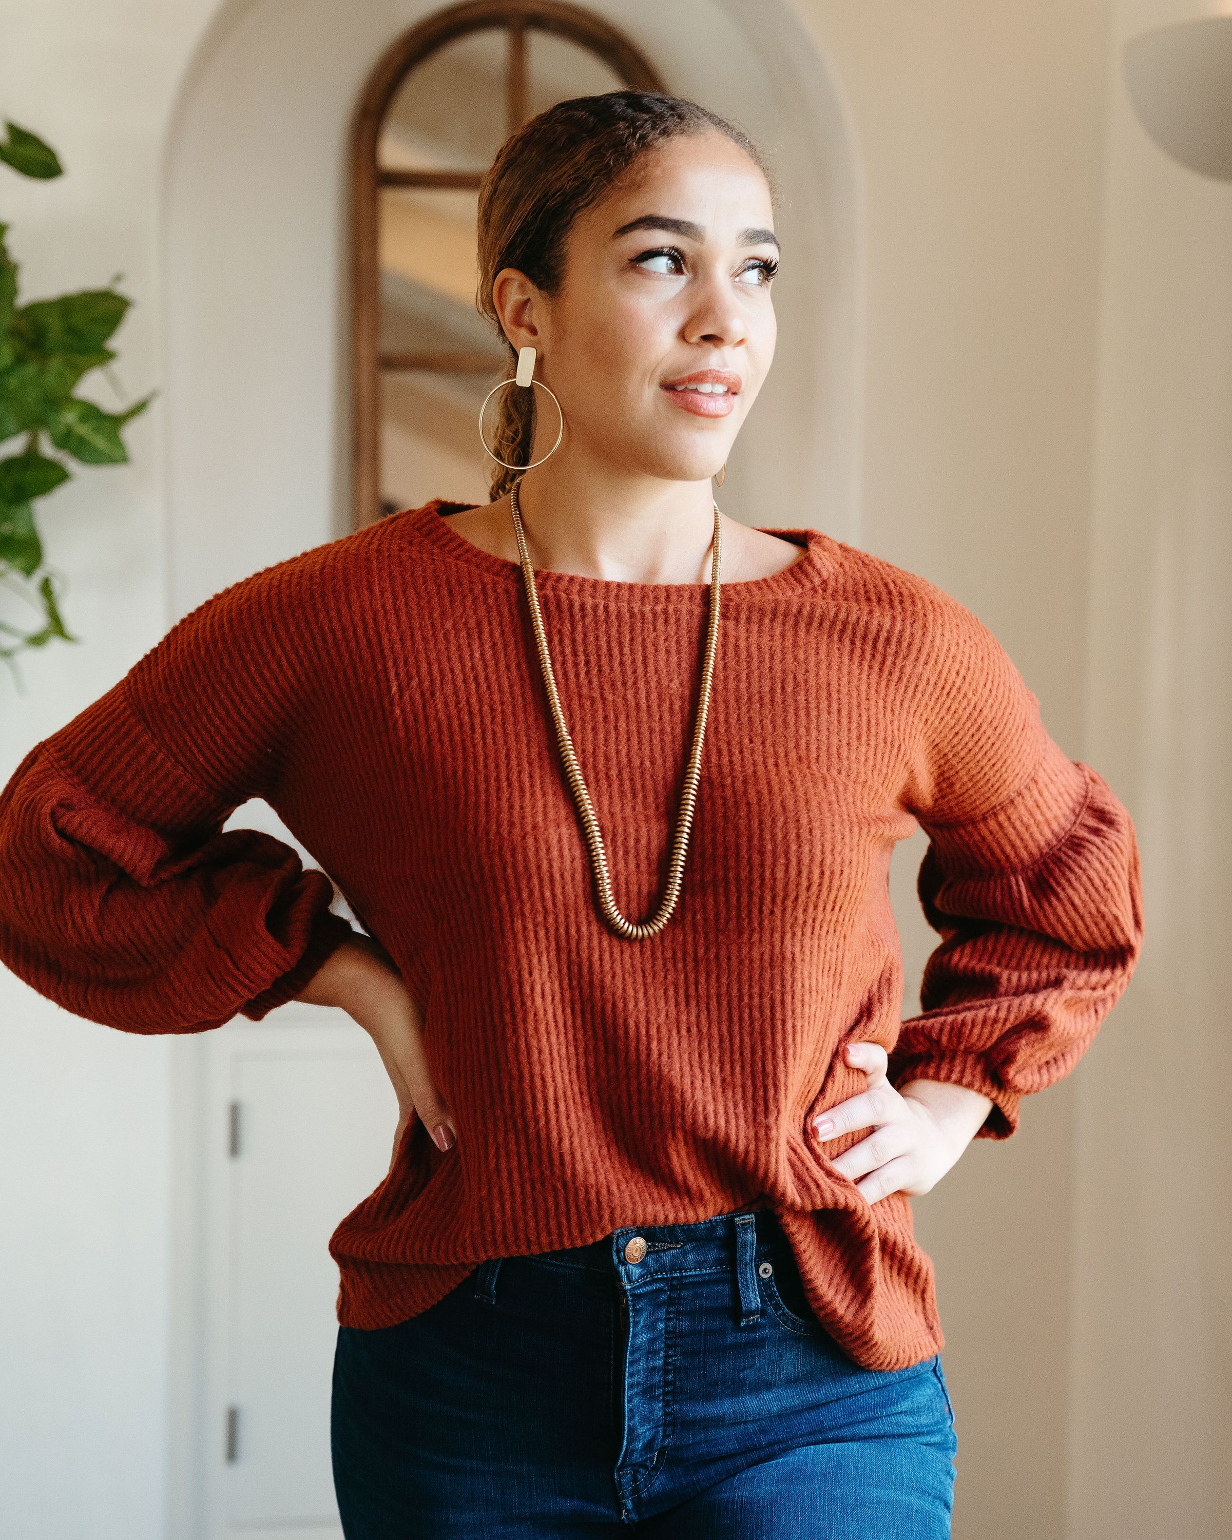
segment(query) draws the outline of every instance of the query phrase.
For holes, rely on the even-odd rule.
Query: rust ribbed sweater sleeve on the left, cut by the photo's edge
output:
[[[222,830],[271,795],[294,719],[271,571],[185,616],[0,792],[0,961],[74,1015],[260,1021],[354,933],[288,844]]]

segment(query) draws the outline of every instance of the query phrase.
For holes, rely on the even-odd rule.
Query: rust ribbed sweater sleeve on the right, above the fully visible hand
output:
[[[1143,893],[1129,813],[1070,761],[996,639],[949,601],[926,671],[907,804],[929,835],[918,890],[941,944],[890,1080],[939,1080],[993,1103],[1006,1138],[1024,1095],[1069,1073],[1138,959]]]

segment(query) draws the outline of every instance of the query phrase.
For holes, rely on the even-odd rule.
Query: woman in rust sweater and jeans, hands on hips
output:
[[[31,750],[0,956],[125,1030],[296,998],[371,1033],[400,1120],[331,1240],[348,1540],[947,1535],[910,1195],[1124,989],[1132,825],[959,604],[816,508],[718,511],[775,350],[742,132],[559,103],[479,246],[519,363],[493,500],[234,584]],[[249,796],[368,935],[220,833]],[[919,824],[944,939],[901,1023]]]

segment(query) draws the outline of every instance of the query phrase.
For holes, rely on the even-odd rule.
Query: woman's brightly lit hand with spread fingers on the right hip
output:
[[[967,1086],[912,1080],[895,1090],[879,1043],[849,1043],[847,1063],[869,1076],[867,1090],[813,1118],[822,1141],[852,1129],[875,1129],[835,1157],[835,1167],[876,1203],[892,1192],[932,1190],[975,1138],[992,1101]]]

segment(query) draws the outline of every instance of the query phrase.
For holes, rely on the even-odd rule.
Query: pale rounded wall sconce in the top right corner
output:
[[[1232,15],[1206,15],[1126,43],[1143,128],[1183,166],[1232,182]]]

